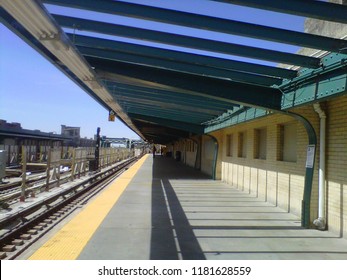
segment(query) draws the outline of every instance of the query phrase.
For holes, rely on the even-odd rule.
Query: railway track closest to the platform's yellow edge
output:
[[[0,259],[16,259],[49,230],[86,204],[138,158],[80,179],[0,220]]]

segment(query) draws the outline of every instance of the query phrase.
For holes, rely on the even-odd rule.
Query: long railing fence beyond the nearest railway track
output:
[[[62,183],[85,176],[89,171],[100,171],[117,162],[132,158],[135,154],[134,150],[127,148],[100,148],[99,166],[93,166],[96,163],[95,148],[49,147],[40,149],[40,151],[44,151],[42,152],[44,157],[40,156],[39,162],[40,165],[44,164],[46,167],[45,175],[41,173],[39,181],[28,183],[28,163],[31,163],[31,157],[27,149],[27,146],[22,146],[20,153],[21,185],[17,187],[17,191],[0,196],[2,207],[6,207],[11,200],[19,198],[20,201],[25,201],[28,196],[34,197],[38,192],[49,191],[53,187],[59,187]],[[46,162],[43,162],[43,158],[47,159]],[[44,176],[45,178],[42,179]]]

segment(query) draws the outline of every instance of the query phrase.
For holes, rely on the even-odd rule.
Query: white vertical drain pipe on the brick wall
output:
[[[326,229],[325,216],[325,135],[326,135],[326,115],[319,103],[313,104],[314,110],[319,115],[320,132],[319,132],[319,178],[318,178],[318,218],[313,224],[319,230]]]

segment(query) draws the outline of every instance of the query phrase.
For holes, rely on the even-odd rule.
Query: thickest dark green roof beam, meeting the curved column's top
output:
[[[101,77],[107,79],[112,78],[113,74],[122,75],[193,91],[201,96],[218,97],[245,106],[262,107],[272,110],[280,109],[282,93],[275,88],[236,83],[211,77],[200,77],[95,58],[89,58],[88,62],[95,67]]]

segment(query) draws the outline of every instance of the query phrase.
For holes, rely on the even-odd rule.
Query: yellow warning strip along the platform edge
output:
[[[143,156],[121,174],[29,260],[75,260],[147,158],[148,155]]]

